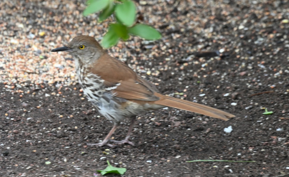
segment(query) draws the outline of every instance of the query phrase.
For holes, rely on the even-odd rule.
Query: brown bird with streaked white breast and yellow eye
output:
[[[51,52],[61,51],[71,52],[83,93],[100,114],[114,123],[102,142],[87,145],[110,147],[125,143],[134,145],[129,138],[136,122],[136,115],[150,110],[173,107],[222,120],[235,117],[216,108],[162,95],[154,84],[142,78],[122,61],[111,57],[94,37],[80,35],[74,37],[67,46],[51,50]],[[125,139],[110,140],[125,118],[130,119]],[[110,144],[109,141],[113,143]]]

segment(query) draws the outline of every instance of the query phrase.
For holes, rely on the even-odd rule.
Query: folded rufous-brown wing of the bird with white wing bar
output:
[[[125,63],[108,54],[100,57],[90,70],[104,80],[106,90],[115,93],[116,97],[144,101],[159,100],[154,95],[158,89],[152,83],[142,79]]]

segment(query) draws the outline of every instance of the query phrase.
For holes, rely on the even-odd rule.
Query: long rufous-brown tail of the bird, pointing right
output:
[[[228,112],[225,112],[216,108],[212,108],[209,106],[201,105],[198,103],[194,103],[191,101],[186,101],[186,100],[177,99],[174,97],[168,97],[164,95],[162,95],[162,97],[164,99],[160,99],[156,101],[155,103],[163,105],[163,106],[181,109],[181,110],[196,112],[199,114],[203,114],[203,115],[214,117],[214,118],[219,118],[222,120],[228,120],[228,118],[235,117],[233,114],[230,114]]]

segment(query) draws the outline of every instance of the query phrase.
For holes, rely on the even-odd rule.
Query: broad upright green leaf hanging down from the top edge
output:
[[[130,27],[136,19],[136,6],[130,0],[124,1],[122,4],[117,4],[115,15],[125,26]]]

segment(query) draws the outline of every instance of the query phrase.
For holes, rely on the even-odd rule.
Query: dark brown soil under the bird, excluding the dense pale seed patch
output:
[[[167,2],[156,5],[158,16],[173,19],[167,25],[175,28],[157,25],[162,42],[150,44],[153,49],[141,42],[136,44],[139,50],[125,49],[137,61],[130,63],[133,57],[127,57],[127,63],[133,68],[151,68],[154,74],[140,74],[157,83],[161,93],[236,117],[222,121],[173,108],[147,112],[138,116],[134,126],[131,141],[136,146],[91,147],[86,142],[103,140],[113,124],[82,99],[79,84],[61,87],[61,83],[27,82],[23,93],[17,93],[17,87],[2,83],[0,176],[98,176],[96,170],[104,169],[106,160],[127,168],[123,175],[127,177],[288,175],[289,24],[282,22],[289,19],[288,1],[220,1],[216,7],[211,1],[199,5]],[[144,6],[151,7],[155,6]],[[190,18],[191,11],[201,11],[198,15],[209,19],[198,29],[212,28],[212,32],[196,32],[197,27],[186,27],[193,20],[180,21]],[[199,58],[192,48],[225,51],[222,56]],[[158,56],[142,59],[153,50],[160,51]],[[264,115],[263,108],[273,114]],[[115,140],[125,138],[128,123],[116,130]],[[224,128],[229,126],[232,131],[226,133]],[[186,162],[197,159],[255,162]]]

